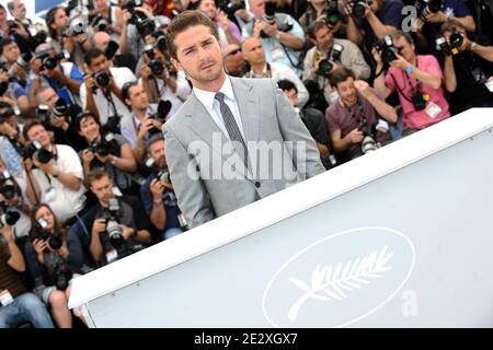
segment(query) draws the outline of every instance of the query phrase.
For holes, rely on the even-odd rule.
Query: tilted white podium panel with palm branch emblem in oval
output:
[[[94,327],[493,326],[493,110],[73,281]]]

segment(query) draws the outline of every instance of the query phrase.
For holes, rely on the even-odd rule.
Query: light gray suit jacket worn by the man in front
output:
[[[171,182],[190,228],[324,172],[313,139],[271,80],[230,79],[251,164],[259,162],[250,173],[236,166],[241,160],[228,153],[228,138],[194,94],[163,126]],[[290,147],[283,141],[302,143]],[[266,158],[268,150],[275,155]],[[260,161],[254,159],[261,153]]]

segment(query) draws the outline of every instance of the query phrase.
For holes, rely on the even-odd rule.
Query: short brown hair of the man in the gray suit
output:
[[[202,11],[183,11],[179,15],[176,15],[168,25],[167,28],[167,42],[168,42],[168,51],[170,56],[174,59],[176,57],[176,46],[174,45],[174,39],[176,36],[188,30],[190,27],[205,25],[210,30],[210,33],[216,37],[219,42],[219,33],[217,31],[216,24],[207,16],[207,14]]]

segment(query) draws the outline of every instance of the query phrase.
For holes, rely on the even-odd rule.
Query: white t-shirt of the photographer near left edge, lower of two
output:
[[[77,152],[69,145],[57,144],[55,147],[57,152],[57,159],[54,161],[55,168],[62,173],[76,175],[82,180],[82,164]],[[33,170],[33,176],[42,191],[41,201],[51,207],[53,212],[60,223],[72,218],[83,208],[85,187],[82,183],[79,190],[74,191],[64,186],[57,178],[38,168]]]

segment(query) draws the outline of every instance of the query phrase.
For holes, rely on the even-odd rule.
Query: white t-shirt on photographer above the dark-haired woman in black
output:
[[[137,81],[137,78],[134,75],[131,70],[126,67],[111,67],[110,71],[112,72],[113,79],[115,80],[115,84],[116,86],[118,86],[118,89],[122,89],[126,82]],[[121,101],[113,92],[111,93],[111,96],[113,98],[113,103],[115,104],[116,110],[118,112],[118,115],[121,115],[123,118],[130,117],[130,109],[128,109],[124,102]],[[98,108],[98,112],[100,113],[100,121],[102,125],[105,125],[108,117],[114,115],[113,106],[106,100],[106,97],[104,97],[101,89],[96,90],[95,94],[93,94],[93,97],[94,104]],[[85,89],[85,83],[82,83],[80,85],[80,100],[82,101],[82,108],[87,109],[88,91]]]

